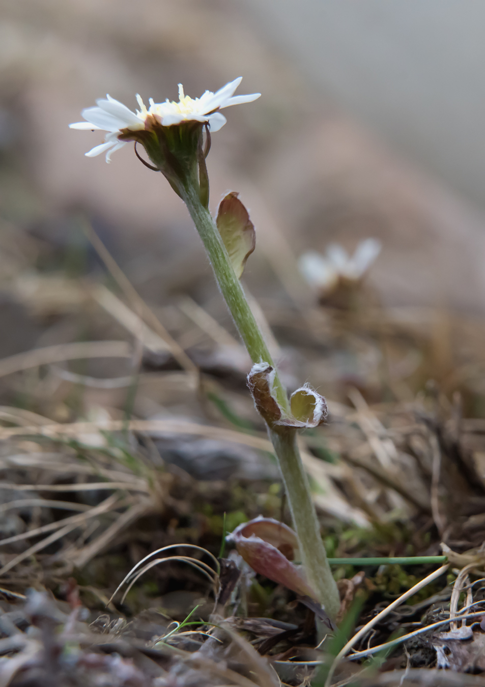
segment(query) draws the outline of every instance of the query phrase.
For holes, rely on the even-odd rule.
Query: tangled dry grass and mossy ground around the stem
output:
[[[244,519],[288,519],[245,352],[202,302],[149,307],[89,236],[111,282],[32,271],[28,235],[5,260],[44,334],[0,361],[0,684],[482,684],[482,322],[385,309],[365,286],[347,309],[261,303],[289,386],[329,400],[301,437],[328,554],[349,559],[322,643],[311,610],[220,551]],[[441,542],[438,572],[352,565]]]

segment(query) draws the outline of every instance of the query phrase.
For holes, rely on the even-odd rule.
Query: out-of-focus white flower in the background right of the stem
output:
[[[300,256],[298,267],[308,284],[330,291],[341,279],[358,282],[381,252],[381,247],[381,242],[376,238],[366,238],[357,245],[354,255],[350,257],[341,245],[332,243],[326,250],[326,256],[316,251],[304,253]]]

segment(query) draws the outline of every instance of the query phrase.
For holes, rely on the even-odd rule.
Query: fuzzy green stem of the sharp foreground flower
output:
[[[201,203],[199,192],[193,185],[188,184],[180,191],[210,257],[218,286],[252,361],[263,361],[275,368],[210,212]],[[284,412],[289,414],[288,396],[276,368],[275,372],[275,397]],[[289,427],[268,427],[268,431],[280,464],[293,525],[300,541],[304,570],[328,616],[335,620],[340,606],[339,593],[320,535],[308,480],[296,444],[296,431]]]

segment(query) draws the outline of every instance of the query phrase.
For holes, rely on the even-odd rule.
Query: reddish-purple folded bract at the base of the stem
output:
[[[318,599],[302,568],[289,560],[297,554],[298,540],[284,523],[258,517],[238,526],[227,541],[234,542],[238,554],[255,572],[296,594]]]

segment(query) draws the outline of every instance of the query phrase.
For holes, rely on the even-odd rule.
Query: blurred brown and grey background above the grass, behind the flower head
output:
[[[375,236],[384,302],[483,313],[484,19],[458,0],[0,0],[0,243],[21,228],[69,247],[81,213],[148,300],[204,300],[168,184],[128,146],[84,157],[102,134],[67,125],[106,92],[133,108],[243,76],[262,98],[227,111],[207,164],[212,210],[228,189],[251,210],[256,297],[313,297],[303,251]]]

